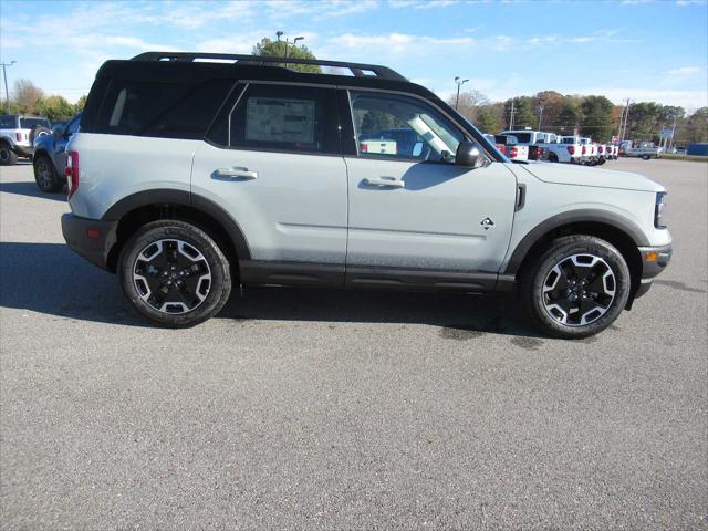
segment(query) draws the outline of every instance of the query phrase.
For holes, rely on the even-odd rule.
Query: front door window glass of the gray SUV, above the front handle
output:
[[[361,157],[454,160],[465,137],[431,105],[408,96],[350,92],[354,134]]]

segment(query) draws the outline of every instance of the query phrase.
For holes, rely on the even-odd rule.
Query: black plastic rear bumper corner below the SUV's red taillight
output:
[[[108,253],[116,242],[117,221],[86,219],[64,214],[62,233],[79,256],[102,269],[108,269]]]

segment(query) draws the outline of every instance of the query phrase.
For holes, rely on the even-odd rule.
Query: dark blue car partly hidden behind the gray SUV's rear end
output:
[[[40,190],[60,191],[66,184],[64,168],[66,168],[66,144],[79,131],[81,113],[76,114],[65,125],[54,125],[51,135],[42,135],[34,140],[34,181]]]

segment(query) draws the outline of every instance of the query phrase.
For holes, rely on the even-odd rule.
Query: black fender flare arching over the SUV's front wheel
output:
[[[595,210],[591,208],[570,210],[568,212],[561,212],[555,215],[545,221],[537,225],[531,229],[517,244],[516,249],[511,253],[511,258],[501,274],[514,275],[519,272],[523,259],[527,257],[529,250],[546,233],[572,223],[602,223],[610,226],[616,230],[621,230],[627,235],[635,242],[637,247],[648,247],[649,241],[642,229],[632,220],[614,212],[606,210]]]

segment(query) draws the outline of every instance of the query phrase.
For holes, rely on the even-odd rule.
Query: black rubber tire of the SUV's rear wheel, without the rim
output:
[[[133,281],[137,256],[148,244],[164,239],[179,239],[194,246],[211,270],[209,294],[190,312],[169,314],[156,310],[140,298]],[[155,221],[139,229],[121,250],[117,273],[131,305],[143,316],[169,327],[188,327],[208,320],[223,308],[231,292],[229,262],[218,244],[202,229],[184,221]]]

